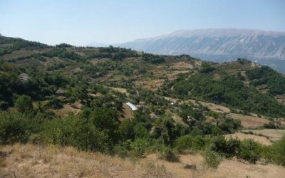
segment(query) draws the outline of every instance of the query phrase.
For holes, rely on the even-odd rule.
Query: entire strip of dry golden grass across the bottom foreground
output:
[[[16,144],[0,150],[0,177],[193,177],[204,170],[199,154],[180,155],[180,162],[167,162],[154,154],[132,161],[71,147]],[[195,164],[197,171],[184,169],[184,164]],[[284,167],[224,159],[217,170],[209,169],[201,177],[274,178],[284,174]]]

